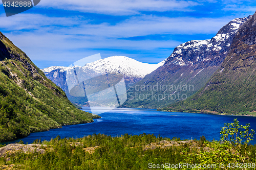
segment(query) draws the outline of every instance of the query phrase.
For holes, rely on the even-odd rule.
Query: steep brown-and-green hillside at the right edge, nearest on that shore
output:
[[[256,14],[238,30],[230,52],[208,83],[170,110],[219,113],[256,111]]]

